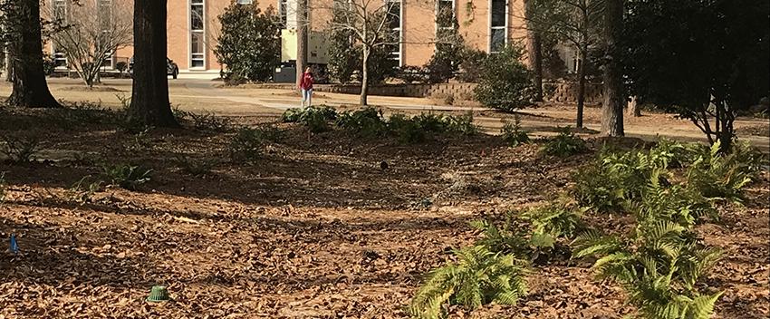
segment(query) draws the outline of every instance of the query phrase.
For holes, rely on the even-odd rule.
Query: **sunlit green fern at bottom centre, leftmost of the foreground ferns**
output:
[[[493,253],[486,247],[455,251],[456,263],[431,271],[409,304],[419,318],[444,318],[446,307],[459,304],[476,309],[484,304],[515,304],[526,295],[525,266],[513,255]]]

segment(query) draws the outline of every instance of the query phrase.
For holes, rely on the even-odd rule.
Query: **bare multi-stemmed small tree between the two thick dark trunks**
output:
[[[82,0],[65,7],[49,5],[46,11],[58,29],[51,35],[53,45],[89,87],[100,81],[104,60],[133,41],[127,1]]]

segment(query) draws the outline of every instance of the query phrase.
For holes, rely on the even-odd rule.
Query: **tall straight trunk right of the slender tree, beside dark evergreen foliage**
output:
[[[616,45],[623,23],[623,0],[607,0],[604,8],[605,55],[602,68],[604,102],[602,103],[602,134],[623,136],[623,79]]]

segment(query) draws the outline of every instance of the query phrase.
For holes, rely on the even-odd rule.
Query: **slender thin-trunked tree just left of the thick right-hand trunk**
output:
[[[525,20],[534,33],[553,34],[572,44],[578,51],[577,117],[575,126],[583,127],[586,66],[592,46],[599,44],[604,0],[527,0]]]

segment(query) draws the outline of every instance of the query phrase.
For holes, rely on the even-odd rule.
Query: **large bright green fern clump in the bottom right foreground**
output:
[[[721,295],[696,286],[721,253],[670,220],[640,220],[628,239],[588,231],[573,247],[573,257],[598,258],[593,269],[623,287],[641,318],[707,319]]]

